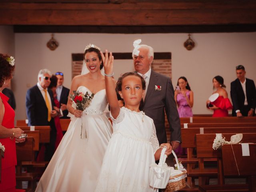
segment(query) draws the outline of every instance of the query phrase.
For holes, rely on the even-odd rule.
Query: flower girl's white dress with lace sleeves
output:
[[[148,192],[150,165],[159,148],[153,120],[122,107],[113,119],[95,192]]]

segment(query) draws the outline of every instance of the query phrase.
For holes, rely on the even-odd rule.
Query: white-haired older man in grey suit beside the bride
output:
[[[154,50],[147,45],[137,45],[132,53],[136,72],[144,77],[146,90],[144,101],[140,105],[147,116],[154,120],[159,143],[166,143],[165,115],[170,125],[172,149],[181,142],[180,118],[174,100],[174,90],[170,78],[154,72],[150,65],[154,59]]]

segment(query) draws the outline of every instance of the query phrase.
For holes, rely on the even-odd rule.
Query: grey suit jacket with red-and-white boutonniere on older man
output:
[[[161,86],[161,90],[155,90],[155,85]],[[151,70],[148,90],[140,110],[143,110],[147,116],[154,120],[159,144],[167,142],[165,110],[170,125],[171,141],[181,142],[180,118],[170,78]]]

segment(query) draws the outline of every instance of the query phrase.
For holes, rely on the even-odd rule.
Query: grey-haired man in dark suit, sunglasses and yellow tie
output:
[[[48,86],[50,85],[51,72],[42,69],[38,73],[38,83],[30,88],[26,94],[26,113],[28,126],[50,126],[50,143],[46,144],[45,160],[50,161],[54,154],[56,141],[56,128],[54,117],[57,116],[53,110],[53,94]]]

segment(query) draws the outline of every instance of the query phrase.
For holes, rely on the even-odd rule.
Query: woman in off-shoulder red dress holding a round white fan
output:
[[[213,117],[227,117],[228,110],[233,108],[230,100],[228,99],[228,93],[224,89],[226,86],[224,85],[224,79],[221,76],[216,76],[212,80],[213,88],[216,89],[213,93],[218,93],[218,98],[210,102],[210,100],[206,101],[207,108],[213,110]],[[212,106],[209,107],[209,104]]]

